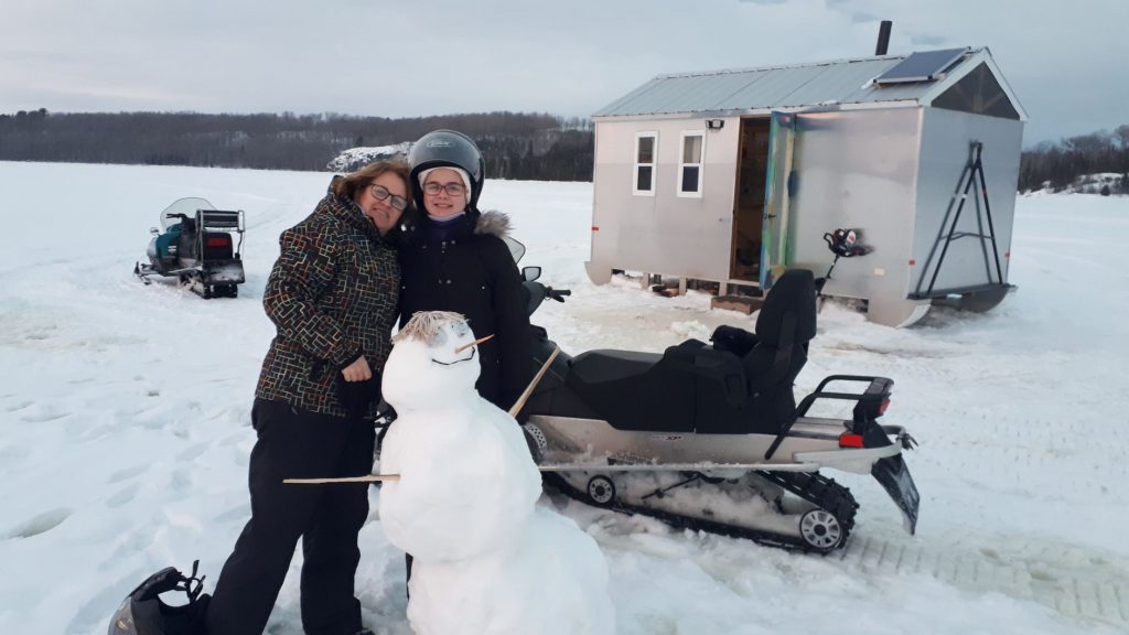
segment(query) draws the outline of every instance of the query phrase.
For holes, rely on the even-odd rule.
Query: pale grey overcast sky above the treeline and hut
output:
[[[651,77],[991,49],[1025,145],[1129,123],[1129,0],[5,0],[0,112],[587,116]]]

